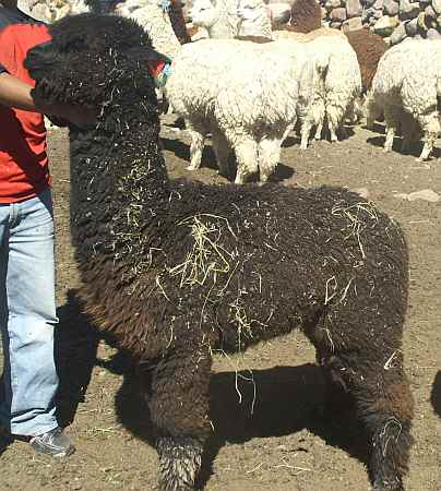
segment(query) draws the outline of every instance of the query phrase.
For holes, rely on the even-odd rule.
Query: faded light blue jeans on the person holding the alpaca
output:
[[[27,201],[0,204],[0,422],[13,434],[38,435],[57,427],[57,323],[52,197],[46,190]]]

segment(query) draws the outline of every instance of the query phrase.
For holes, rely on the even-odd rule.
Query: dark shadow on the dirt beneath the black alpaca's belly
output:
[[[124,373],[123,384],[116,397],[120,422],[136,438],[153,445],[153,428],[146,400],[140,394],[143,381],[134,370]],[[324,381],[321,370],[312,363],[300,367],[241,372],[222,372],[212,375],[210,383],[210,418],[213,434],[208,440],[199,487],[213,472],[212,464],[227,443],[245,443],[253,438],[274,438],[308,429],[329,445],[342,448],[367,463],[367,442],[354,414],[345,418],[323,420]]]

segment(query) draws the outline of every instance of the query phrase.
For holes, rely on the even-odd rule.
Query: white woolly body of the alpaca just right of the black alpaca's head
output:
[[[291,98],[294,118],[298,93],[295,53],[277,46],[236,39],[183,46],[166,87],[175,110],[183,117],[215,112],[238,127],[252,127],[259,118],[274,122],[277,116],[269,119],[265,115],[286,113],[286,100]]]

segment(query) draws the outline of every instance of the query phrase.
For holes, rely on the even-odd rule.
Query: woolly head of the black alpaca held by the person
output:
[[[143,97],[156,105],[150,69],[169,60],[135,22],[81,14],[58,21],[49,33],[51,41],[29,50],[25,60],[37,104],[73,104],[102,113],[139,105]]]

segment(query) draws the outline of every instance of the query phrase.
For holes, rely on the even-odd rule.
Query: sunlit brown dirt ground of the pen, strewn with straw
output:
[[[168,118],[163,127],[170,176],[224,182],[212,164],[210,146],[203,168],[186,170],[188,135],[171,122]],[[441,201],[409,201],[398,194],[427,189],[441,194],[441,152],[421,164],[415,161],[416,153],[384,154],[382,142],[379,132],[358,127],[338,144],[319,142],[301,153],[298,141],[289,137],[274,179],[283,185],[326,183],[361,190],[404,227],[410,252],[404,354],[416,400],[416,443],[406,490],[436,491],[441,490]],[[69,235],[65,131],[51,131],[49,149],[61,321],[57,331],[60,419],[70,423],[67,431],[78,452],[65,462],[53,462],[35,456],[25,443],[11,443],[1,454],[0,491],[151,490],[157,457],[147,410],[133,392],[130,366],[96,335],[70,294],[79,277]],[[318,417],[323,383],[313,361],[313,349],[300,333],[241,357],[216,359],[211,385],[215,432],[201,480],[207,491],[370,489],[362,430],[351,418]],[[251,376],[257,388],[253,414]]]

